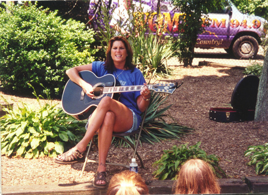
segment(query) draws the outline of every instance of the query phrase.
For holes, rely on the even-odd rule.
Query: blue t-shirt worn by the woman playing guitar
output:
[[[142,72],[138,68],[134,68],[132,70],[120,70],[116,69],[113,73],[108,73],[104,66],[105,62],[102,61],[93,61],[92,63],[92,72],[97,77],[102,77],[107,74],[112,74],[117,78],[121,84],[121,86],[130,86],[130,85],[143,85],[145,79],[143,77]],[[123,71],[123,72],[122,72]],[[128,91],[122,92],[119,98],[119,102],[124,104],[127,108],[133,110],[138,117],[138,124],[141,123],[142,117],[140,116],[141,111],[137,105],[137,98],[141,95],[140,91]]]

